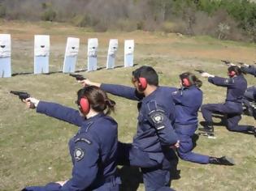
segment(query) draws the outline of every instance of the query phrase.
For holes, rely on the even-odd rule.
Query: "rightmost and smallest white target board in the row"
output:
[[[124,67],[133,66],[134,40],[124,40]]]

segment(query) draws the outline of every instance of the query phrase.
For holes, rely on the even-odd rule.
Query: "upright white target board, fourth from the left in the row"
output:
[[[97,70],[98,39],[88,39],[88,64],[87,71]]]

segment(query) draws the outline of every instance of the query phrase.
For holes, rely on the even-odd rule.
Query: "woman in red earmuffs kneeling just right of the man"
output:
[[[180,159],[193,163],[213,163],[222,165],[233,165],[232,159],[225,156],[216,158],[208,155],[194,153],[192,137],[197,130],[197,112],[202,104],[202,81],[190,73],[180,74],[181,88],[172,93],[175,103],[175,130],[180,140],[177,148]]]

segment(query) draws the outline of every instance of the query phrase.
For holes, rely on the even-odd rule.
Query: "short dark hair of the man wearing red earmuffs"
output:
[[[141,66],[137,70],[132,71],[134,79],[145,78],[150,85],[158,86],[158,74],[151,66]]]

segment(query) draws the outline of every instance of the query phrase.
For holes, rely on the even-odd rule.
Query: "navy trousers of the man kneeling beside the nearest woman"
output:
[[[146,191],[173,190],[168,186],[170,162],[167,159],[164,159],[163,163],[158,163],[150,159],[148,153],[141,151],[137,146],[119,142],[117,163],[141,168]]]

